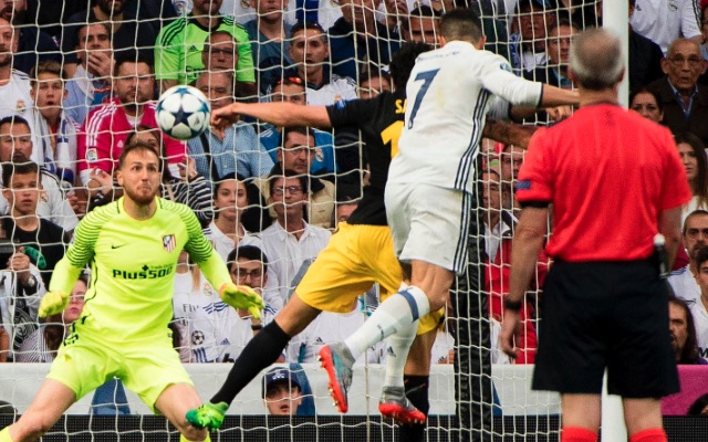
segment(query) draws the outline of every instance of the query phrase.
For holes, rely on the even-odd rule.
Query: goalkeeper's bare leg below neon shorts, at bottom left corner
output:
[[[76,396],[69,387],[53,379],[45,379],[20,420],[0,432],[0,442],[38,440],[75,401]]]

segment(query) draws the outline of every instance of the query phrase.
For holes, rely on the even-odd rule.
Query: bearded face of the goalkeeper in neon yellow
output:
[[[138,206],[147,206],[155,200],[160,177],[157,154],[147,149],[128,152],[118,169],[118,183],[125,197]]]

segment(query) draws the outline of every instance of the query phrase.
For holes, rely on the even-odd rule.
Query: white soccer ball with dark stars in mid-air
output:
[[[209,127],[211,107],[196,87],[173,86],[159,96],[156,108],[157,125],[169,137],[191,139]]]

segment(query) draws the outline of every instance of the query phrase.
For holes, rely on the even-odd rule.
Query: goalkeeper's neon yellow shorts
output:
[[[175,383],[194,386],[168,333],[147,341],[111,343],[102,339],[91,319],[87,316],[84,324],[79,324],[81,319],[76,322],[46,375],[48,379],[69,387],[76,400],[117,377],[153,412],[159,413],[155,403],[167,387]],[[106,332],[102,330],[104,336]]]

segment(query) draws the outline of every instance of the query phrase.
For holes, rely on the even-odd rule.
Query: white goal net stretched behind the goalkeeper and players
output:
[[[267,323],[291,296],[326,243],[327,232],[361,200],[369,186],[368,161],[375,158],[362,154],[363,137],[356,128],[317,130],[315,146],[302,154],[281,150],[295,135],[249,117],[186,143],[169,140],[157,130],[154,103],[159,93],[171,85],[191,84],[205,93],[212,108],[235,99],[327,106],[376,96],[393,87],[388,63],[400,44],[435,40],[440,14],[456,3],[194,3],[6,2],[0,11],[0,29],[9,30],[7,35],[0,32],[2,172],[17,176],[13,168],[27,160],[40,165],[43,190],[31,210],[72,232],[87,211],[119,198],[114,170],[123,147],[134,139],[156,144],[166,162],[162,196],[195,211],[225,261],[237,245],[257,245],[268,252],[268,270],[248,274],[251,282],[256,276],[270,280],[262,285],[264,297],[269,296]],[[572,87],[565,71],[571,35],[602,25],[601,0],[480,0],[457,6],[480,14],[486,49],[508,59],[517,75],[561,87]],[[126,102],[139,106],[121,110]],[[10,116],[27,123],[3,119]],[[550,120],[549,115],[539,114],[524,124]],[[18,126],[22,128],[15,131]],[[397,135],[381,135],[392,145],[397,139]],[[22,146],[27,143],[29,148]],[[519,343],[522,357],[514,364],[498,346],[501,299],[508,292],[508,244],[518,212],[513,183],[524,146],[486,139],[480,152],[470,262],[450,292],[448,318],[434,347],[427,440],[556,440],[559,398],[530,389],[535,346],[543,339],[539,305],[539,287],[548,270],[543,256],[525,299],[525,333]],[[302,158],[295,158],[299,155]],[[306,234],[320,235],[321,243],[299,244],[302,241],[288,239],[288,233],[277,243],[266,232],[273,221],[287,222],[290,217],[279,212],[278,192],[268,180],[273,168],[283,165],[300,170],[305,189],[288,185],[280,198],[300,198],[309,190],[304,219],[319,230]],[[3,180],[3,188],[11,186],[12,181]],[[21,212],[14,197],[6,193],[0,210],[15,220]],[[236,220],[223,221],[229,217]],[[15,253],[29,256],[35,285],[30,286],[27,274],[10,266],[0,270],[0,329],[4,330],[0,361],[7,360],[0,364],[0,400],[8,402],[0,406],[0,428],[28,410],[69,320],[61,315],[40,320],[37,308],[70,238],[44,227],[39,234],[18,231],[17,221],[8,222],[2,224],[0,264]],[[49,234],[50,230],[55,233]],[[164,246],[169,245],[167,239]],[[231,260],[238,257],[231,255]],[[136,253],[135,260],[140,259]],[[251,327],[258,329],[258,325],[225,308],[194,265],[186,260],[181,264],[175,284],[175,343],[206,401],[252,336]],[[139,272],[134,277],[139,278]],[[80,290],[75,298],[81,301],[82,293]],[[377,410],[385,348],[372,349],[356,366],[347,415],[339,415],[332,407],[326,377],[314,360],[317,346],[342,339],[375,309],[377,296],[378,287],[374,287],[351,314],[323,315],[283,355],[282,367],[299,373],[293,379],[300,379],[304,394],[300,408],[306,411],[271,415],[267,375],[261,373],[237,397],[212,440],[394,440],[397,427],[382,421]],[[108,382],[100,393],[90,393],[70,408],[44,440],[177,440],[176,430],[152,414],[137,396],[121,383]]]

